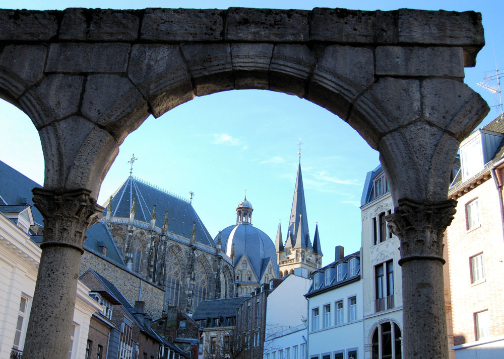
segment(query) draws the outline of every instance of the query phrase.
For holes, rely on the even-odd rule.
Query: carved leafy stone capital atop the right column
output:
[[[443,259],[443,235],[455,214],[457,201],[421,203],[408,198],[398,201],[387,217],[389,229],[399,237],[399,264],[413,259]]]

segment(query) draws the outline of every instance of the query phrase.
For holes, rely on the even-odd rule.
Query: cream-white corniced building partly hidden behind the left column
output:
[[[41,249],[28,234],[33,225],[29,206],[0,206],[0,212],[0,357],[21,357]],[[70,359],[85,357],[90,317],[102,310],[88,292],[79,281]]]

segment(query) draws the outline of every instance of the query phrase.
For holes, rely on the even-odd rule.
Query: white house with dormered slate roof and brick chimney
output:
[[[343,255],[313,272],[308,299],[308,358],[363,357],[363,297],[360,252]]]

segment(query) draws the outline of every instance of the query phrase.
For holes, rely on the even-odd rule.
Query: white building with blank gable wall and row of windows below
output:
[[[296,268],[295,272],[300,270]],[[268,295],[264,358],[306,359],[307,301],[304,295],[310,285],[310,279],[291,274]]]

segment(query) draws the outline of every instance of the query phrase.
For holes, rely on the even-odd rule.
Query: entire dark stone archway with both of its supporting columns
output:
[[[0,97],[31,118],[45,159],[44,189],[34,191],[44,242],[27,357],[68,355],[72,278],[85,230],[102,211],[93,198],[125,136],[149,114],[241,88],[323,106],[380,151],[395,205],[388,220],[411,279],[403,283],[405,356],[446,357],[446,323],[432,320],[444,316],[439,237],[454,210],[450,162],[488,112],[463,83],[484,44],[480,14],[0,10],[0,26]]]

